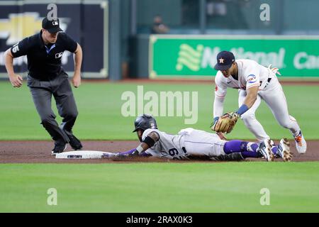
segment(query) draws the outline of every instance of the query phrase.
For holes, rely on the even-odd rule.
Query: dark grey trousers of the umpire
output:
[[[78,112],[67,74],[62,72],[50,81],[40,81],[28,76],[28,87],[43,127],[55,140],[55,143],[68,143],[69,138],[65,131],[72,133]],[[61,127],[55,121],[56,116],[51,108],[52,95],[57,104],[57,111],[62,117]]]

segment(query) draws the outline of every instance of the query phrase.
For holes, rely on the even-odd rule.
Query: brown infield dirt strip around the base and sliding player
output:
[[[84,150],[100,150],[108,152],[119,152],[130,150],[138,146],[137,140],[84,140],[82,141]],[[278,141],[275,141],[277,144]],[[300,155],[296,151],[296,146],[293,140],[290,140],[291,152],[293,153],[293,162],[305,162],[305,161],[319,161],[319,140],[307,141],[306,154]],[[86,159],[86,160],[65,160],[55,159],[55,156],[51,155],[51,149],[53,148],[52,141],[0,141],[0,163],[127,163],[127,162],[194,162],[191,161],[175,161],[159,159],[154,157],[140,157],[130,160],[113,161],[107,159]],[[67,147],[66,151],[70,151],[72,148]],[[245,161],[255,161],[262,159],[247,159]],[[281,159],[276,159],[281,161]],[[203,162],[203,161],[196,161]],[[208,161],[206,161],[208,162]],[[213,162],[213,161],[209,161]],[[214,161],[216,162],[216,161]]]

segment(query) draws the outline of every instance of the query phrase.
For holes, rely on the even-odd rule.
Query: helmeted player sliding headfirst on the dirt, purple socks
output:
[[[280,155],[284,161],[291,161],[289,142],[281,139],[276,153],[272,151],[272,140],[260,145],[242,140],[222,140],[216,133],[185,128],[177,135],[157,129],[155,118],[143,114],[135,120],[135,130],[140,140],[138,148],[121,153],[105,153],[107,157],[153,156],[173,160],[243,160],[246,157],[264,157],[267,161]]]

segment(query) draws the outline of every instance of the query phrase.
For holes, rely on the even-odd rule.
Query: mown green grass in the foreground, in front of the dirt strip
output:
[[[319,212],[319,162],[0,165],[0,212]],[[47,189],[57,189],[57,206]],[[269,189],[270,205],[260,204]]]

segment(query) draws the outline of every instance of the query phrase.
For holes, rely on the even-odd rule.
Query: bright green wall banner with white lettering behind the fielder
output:
[[[278,67],[283,77],[319,77],[319,37],[291,35],[151,35],[150,78],[215,76],[221,50]]]

